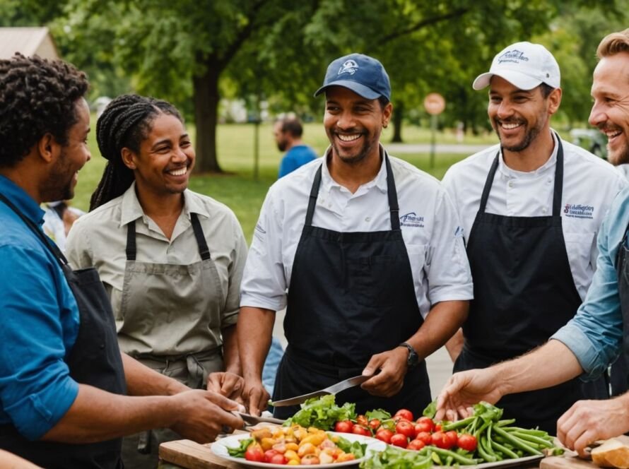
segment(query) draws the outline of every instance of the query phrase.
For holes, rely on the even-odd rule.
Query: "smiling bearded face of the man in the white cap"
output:
[[[539,86],[520,90],[504,78],[493,76],[487,112],[502,147],[512,152],[528,148],[542,131],[550,129],[550,117],[560,100],[558,88],[545,98]]]

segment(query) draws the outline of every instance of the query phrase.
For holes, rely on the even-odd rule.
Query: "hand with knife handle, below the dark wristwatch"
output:
[[[380,373],[372,376],[360,387],[373,396],[387,398],[395,396],[404,386],[407,355],[406,348],[401,347],[373,355],[365,369],[363,369],[363,376],[371,376],[378,369],[380,369]]]

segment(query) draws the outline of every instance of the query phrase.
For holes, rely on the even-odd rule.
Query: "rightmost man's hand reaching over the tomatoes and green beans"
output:
[[[495,404],[502,397],[494,372],[490,368],[471,369],[453,374],[437,398],[435,420],[450,420],[469,417],[473,406],[484,400]]]

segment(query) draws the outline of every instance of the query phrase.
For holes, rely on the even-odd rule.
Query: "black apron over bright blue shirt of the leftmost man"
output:
[[[59,248],[49,242],[42,230],[27,218],[6,197],[6,203],[40,238],[59,261],[74,294],[81,323],[74,347],[66,358],[70,376],[80,384],[95,386],[116,394],[127,393],[122,357],[118,348],[114,314],[95,268],[72,271]],[[122,439],[90,444],[65,444],[50,441],[29,441],[13,425],[0,426],[0,448],[28,461],[51,469],[120,469]]]

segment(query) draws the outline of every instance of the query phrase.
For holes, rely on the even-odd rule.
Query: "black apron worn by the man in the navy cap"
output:
[[[396,348],[423,324],[386,153],[384,162],[390,231],[336,232],[312,226],[321,184],[322,169],[317,170],[295,251],[284,319],[289,345],[278,367],[274,400],[316,391],[360,374],[372,355]],[[355,403],[358,413],[408,408],[421,415],[430,403],[425,362],[408,370],[396,396],[371,396],[357,386],[337,394],[336,403],[345,402]],[[274,413],[286,418],[298,409],[275,408]]]

